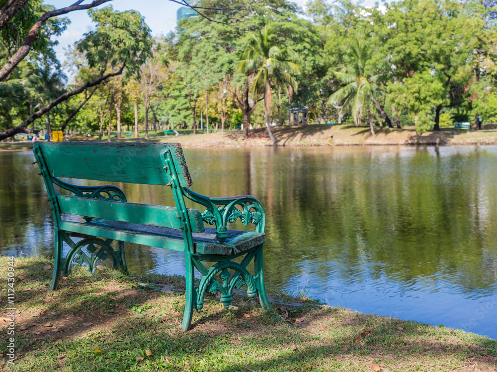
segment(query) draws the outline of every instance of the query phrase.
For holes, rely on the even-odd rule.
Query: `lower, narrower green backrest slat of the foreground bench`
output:
[[[173,207],[124,203],[120,201],[91,199],[79,196],[57,195],[61,213],[77,214],[106,220],[130,222],[179,229],[181,223]],[[192,232],[201,233],[204,225],[200,212],[188,209]]]

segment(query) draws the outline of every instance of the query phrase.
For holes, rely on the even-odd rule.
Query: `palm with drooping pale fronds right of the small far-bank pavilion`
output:
[[[340,105],[340,111],[344,107],[350,107],[355,120],[357,120],[358,114],[365,109],[368,113],[371,133],[374,135],[370,105],[375,105],[378,108],[389,127],[393,128],[393,125],[376,99],[376,97],[383,94],[378,86],[381,75],[371,75],[365,68],[370,58],[371,54],[366,45],[361,42],[352,44],[349,54],[344,57],[345,63],[343,67],[339,71],[333,71],[333,74],[345,86],[334,92],[330,96],[328,103],[330,105]]]

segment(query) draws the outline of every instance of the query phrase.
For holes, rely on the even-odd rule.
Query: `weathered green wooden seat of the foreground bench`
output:
[[[233,255],[255,248],[266,242],[266,234],[251,231],[228,230],[228,238],[221,244],[216,229],[205,227],[203,233],[193,233],[193,248],[197,254]],[[62,221],[61,230],[82,235],[99,236],[136,244],[146,241],[151,247],[184,251],[181,230],[129,222],[93,219],[89,223]]]

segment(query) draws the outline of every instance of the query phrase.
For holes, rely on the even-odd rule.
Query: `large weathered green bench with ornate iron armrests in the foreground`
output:
[[[61,272],[70,274],[73,262],[85,263],[94,273],[97,262],[108,258],[114,268],[127,273],[124,243],[129,242],[184,252],[183,330],[190,326],[193,309],[202,309],[206,292],[219,292],[227,309],[233,290],[247,285],[248,296],[258,295],[261,306],[271,309],[262,274],[264,208],[248,195],[213,198],[191,191],[192,180],[179,143],[35,142],[33,152],[54,217],[51,290],[57,289]],[[129,203],[117,186],[78,186],[61,178],[169,186],[175,206]],[[73,195],[63,195],[61,189]],[[187,209],[185,197],[205,210]],[[66,214],[82,216],[81,222]],[[239,218],[245,226],[255,225],[255,231],[228,230],[228,222]],[[215,227],[204,227],[204,223]],[[117,248],[111,246],[113,241]],[[63,242],[70,248],[65,257]],[[243,257],[241,263],[233,260],[236,257]],[[254,275],[247,269],[252,260]],[[204,262],[214,263],[207,268]],[[202,275],[196,288],[194,268]]]

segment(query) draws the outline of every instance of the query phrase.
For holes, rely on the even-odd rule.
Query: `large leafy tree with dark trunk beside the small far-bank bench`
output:
[[[451,0],[399,1],[386,11],[373,8],[369,20],[375,62],[383,63],[390,81],[403,83],[416,73],[427,78],[429,71],[442,83],[439,103],[432,108],[433,129],[439,130],[442,109],[468,103],[472,78],[480,73],[474,52],[482,47],[485,20]]]

